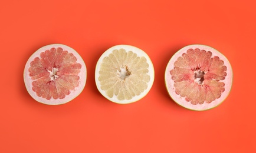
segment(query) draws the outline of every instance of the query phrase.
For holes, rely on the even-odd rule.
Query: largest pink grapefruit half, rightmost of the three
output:
[[[203,111],[221,104],[232,86],[228,59],[206,45],[189,45],[170,59],[165,84],[170,97],[182,107]]]

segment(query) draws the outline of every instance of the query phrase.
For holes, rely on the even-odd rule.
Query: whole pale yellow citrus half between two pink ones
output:
[[[155,73],[149,56],[130,45],[116,45],[97,62],[95,81],[100,93],[112,102],[128,104],[145,97]]]

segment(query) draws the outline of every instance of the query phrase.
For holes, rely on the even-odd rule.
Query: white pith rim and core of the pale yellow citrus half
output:
[[[99,71],[100,71],[100,65],[103,61],[103,58],[106,57],[106,56],[109,56],[115,49],[122,49],[122,48],[125,49],[126,52],[133,51],[137,54],[137,56],[144,56],[147,59],[147,64],[149,64],[149,68],[148,68],[149,72],[147,74],[150,76],[150,81],[147,83],[147,89],[145,89],[145,91],[143,91],[140,95],[137,95],[137,96],[133,97],[130,100],[124,99],[124,100],[121,101],[121,100],[117,99],[116,95],[114,95],[112,98],[108,97],[107,94],[106,94],[106,91],[104,91],[100,88],[100,81],[99,81],[100,74],[99,74]],[[122,79],[122,81],[125,81],[125,79],[127,77],[129,77],[129,75],[127,75],[126,72],[127,72],[126,68],[122,67],[122,65],[120,65],[119,77]],[[100,91],[100,93],[105,98],[109,99],[112,102],[116,102],[118,104],[129,104],[129,103],[138,101],[139,99],[145,97],[145,95],[150,91],[150,89],[153,85],[154,79],[155,79],[155,71],[154,71],[154,68],[153,68],[152,61],[150,60],[149,56],[144,51],[142,51],[142,49],[139,49],[135,46],[130,46],[130,45],[112,46],[111,48],[107,49],[107,51],[105,51],[100,56],[99,61],[97,62],[97,65],[96,65],[95,81],[96,81],[97,89]]]

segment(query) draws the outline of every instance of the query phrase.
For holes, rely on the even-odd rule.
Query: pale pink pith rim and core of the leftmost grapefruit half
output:
[[[78,81],[79,86],[76,87],[74,90],[70,91],[69,95],[65,95],[65,98],[63,98],[63,99],[51,98],[50,100],[47,100],[45,98],[38,97],[36,92],[34,92],[32,90],[32,82],[35,80],[32,80],[31,77],[29,77],[28,68],[30,67],[30,63],[31,63],[31,61],[34,60],[34,58],[40,57],[41,52],[45,52],[47,49],[50,50],[51,48],[58,48],[58,47],[63,48],[64,51],[71,52],[74,56],[76,56],[77,63],[81,64],[80,73],[78,74],[78,77],[80,77],[80,79]],[[56,71],[57,71],[57,68],[53,68],[52,71],[48,71],[48,72],[50,72],[49,77],[51,78],[51,81],[54,81],[55,79],[58,78],[58,75],[56,75]],[[24,82],[25,82],[25,87],[27,88],[29,95],[31,95],[31,97],[34,98],[36,101],[41,102],[43,104],[48,104],[48,105],[65,104],[65,103],[71,101],[72,99],[76,98],[83,91],[83,89],[86,85],[86,78],[87,78],[86,64],[84,63],[81,56],[73,48],[70,48],[69,46],[66,46],[63,44],[52,44],[52,45],[43,46],[42,48],[38,49],[36,52],[34,52],[34,54],[32,54],[29,57],[26,65],[25,65],[25,69],[24,69]]]

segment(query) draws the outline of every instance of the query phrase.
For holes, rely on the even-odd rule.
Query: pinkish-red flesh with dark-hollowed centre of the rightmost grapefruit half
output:
[[[227,66],[218,56],[204,49],[188,49],[174,62],[170,70],[176,94],[191,104],[211,103],[225,91],[222,80],[227,76]]]

